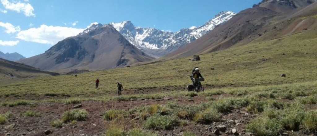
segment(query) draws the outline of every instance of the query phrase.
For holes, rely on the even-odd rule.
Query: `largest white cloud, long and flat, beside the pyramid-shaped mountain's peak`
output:
[[[54,45],[58,41],[70,36],[76,36],[83,31],[84,29],[47,26],[43,24],[39,28],[29,28],[20,31],[16,38],[30,42]]]

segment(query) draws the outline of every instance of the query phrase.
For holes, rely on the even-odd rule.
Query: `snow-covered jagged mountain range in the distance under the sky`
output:
[[[153,57],[161,57],[200,38],[214,29],[217,25],[231,19],[234,15],[236,15],[234,12],[222,11],[200,27],[193,26],[184,28],[178,32],[168,32],[155,28],[135,27],[131,21],[120,23],[112,22],[110,25],[118,30],[126,40],[143,52]],[[89,31],[102,26],[102,24],[92,25],[81,34],[88,33]]]

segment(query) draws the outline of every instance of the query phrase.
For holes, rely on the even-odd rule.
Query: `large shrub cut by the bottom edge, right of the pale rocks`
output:
[[[247,131],[255,136],[276,136],[281,131],[281,124],[267,117],[253,119],[247,125]]]

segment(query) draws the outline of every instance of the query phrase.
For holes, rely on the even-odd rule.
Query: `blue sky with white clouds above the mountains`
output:
[[[0,51],[25,57],[44,53],[91,23],[132,21],[173,32],[203,25],[220,11],[261,0],[0,0]]]

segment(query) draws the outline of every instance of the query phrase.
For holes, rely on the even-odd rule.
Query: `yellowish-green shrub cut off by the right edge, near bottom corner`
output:
[[[304,119],[302,121],[303,127],[307,131],[316,131],[317,130],[317,112],[309,111],[305,114]]]

